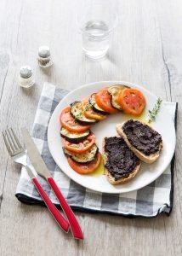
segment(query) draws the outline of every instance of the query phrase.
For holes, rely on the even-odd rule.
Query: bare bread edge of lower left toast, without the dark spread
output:
[[[116,179],[110,172],[110,170],[105,166],[108,159],[108,154],[107,152],[105,152],[105,138],[103,138],[103,160],[104,160],[104,167],[105,167],[105,176],[107,177],[109,183],[111,183],[112,185],[117,185],[117,184],[123,184],[123,183],[128,183],[132,178],[134,178],[136,176],[136,174],[139,172],[141,163],[138,160],[137,165],[134,167],[134,170],[132,170],[128,176],[126,177],[121,177],[119,179]]]

